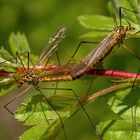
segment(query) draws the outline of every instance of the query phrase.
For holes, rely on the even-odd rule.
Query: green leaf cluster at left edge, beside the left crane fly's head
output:
[[[25,53],[25,51],[30,51],[25,35],[22,35],[19,32],[17,34],[12,33],[10,35],[9,45],[14,56],[16,52],[21,53],[23,51]],[[23,64],[25,62],[27,64],[27,55],[22,55],[21,60],[23,61]],[[21,62],[11,56],[4,47],[0,48],[0,96],[16,87],[13,74],[16,72],[19,64],[21,65]]]

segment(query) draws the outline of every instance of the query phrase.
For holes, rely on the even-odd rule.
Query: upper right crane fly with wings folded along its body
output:
[[[95,48],[93,48],[89,54],[87,54],[82,60],[81,63],[79,64],[79,67],[76,66],[75,70],[73,70],[72,76],[73,77],[80,77],[86,70],[88,70],[90,67],[95,68],[99,64],[105,60],[105,58],[112,52],[113,48],[116,45],[121,45],[123,44],[123,41],[126,38],[127,32],[132,32],[135,30],[135,27],[131,26],[130,23],[127,26],[123,26],[121,23],[121,9],[124,10],[129,10],[123,7],[120,7],[120,25],[116,26],[113,31],[107,35]],[[130,12],[136,12],[129,10]],[[133,35],[138,34],[140,31],[137,31],[133,33]],[[83,41],[81,43],[86,43],[86,41]],[[78,49],[81,45],[81,43],[78,45]],[[93,43],[93,42],[90,42]],[[132,55],[135,55],[138,60],[140,60],[140,57],[137,56],[133,51],[128,49],[125,45],[123,47]],[[76,50],[77,51],[77,50]],[[76,53],[75,51],[75,53]],[[75,54],[74,53],[74,54]],[[72,56],[73,57],[73,56]]]

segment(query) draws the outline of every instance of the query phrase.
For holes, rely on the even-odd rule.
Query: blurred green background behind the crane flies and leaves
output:
[[[78,23],[77,17],[86,14],[109,15],[107,3],[108,0],[88,2],[86,0],[0,0],[0,45],[7,47],[10,33],[20,31],[27,36],[32,52],[39,55],[49,37],[61,25],[65,24],[68,27],[67,36],[60,45],[60,50],[58,50],[60,60],[62,63],[65,63],[65,59],[62,58],[70,58],[80,42],[79,36],[86,32],[86,29]],[[128,42],[127,44],[131,44],[132,49],[137,49],[136,52],[139,52],[138,39],[131,40],[131,42],[134,43]],[[79,57],[83,57],[85,54],[84,47],[88,47],[88,45],[80,49],[81,51],[78,52],[76,59],[80,60],[81,58]],[[90,48],[92,48],[92,46],[90,46]],[[88,50],[90,50],[90,48]],[[136,63],[134,63],[135,61]],[[133,56],[120,50],[120,52],[111,56],[110,60],[105,62],[105,66],[108,69],[137,72],[139,62]],[[110,85],[110,83],[107,83],[109,78],[105,78],[102,83],[101,79],[102,78],[98,78],[94,81],[93,89],[95,89],[95,91],[98,91],[100,87],[104,88]],[[84,91],[86,92],[88,90],[88,82],[83,82],[82,84],[83,87],[86,85],[84,89],[81,88],[81,83],[75,87],[78,88],[79,93],[83,92],[83,94],[85,94]],[[13,116],[5,111],[3,107],[13,98],[14,93],[15,91],[0,99],[0,139],[2,140],[17,140],[18,136],[26,129],[22,124],[17,123]],[[20,102],[20,100],[14,103],[13,106],[15,106],[15,108],[18,102]],[[76,138],[80,140],[92,139],[92,137],[90,137],[90,135],[92,136],[92,128],[83,114],[84,113],[80,111],[78,113],[79,116],[74,116],[66,125],[68,135],[73,135],[72,138],[75,138],[75,140]],[[81,120],[79,120],[79,117]],[[84,121],[85,123],[77,124],[76,122],[78,121]],[[86,135],[83,135],[86,131]]]

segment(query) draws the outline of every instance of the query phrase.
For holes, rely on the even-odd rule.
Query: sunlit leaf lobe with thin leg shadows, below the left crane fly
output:
[[[53,102],[51,101],[51,105],[55,107],[55,109],[61,116],[65,116],[68,112],[61,110],[60,104],[59,106],[57,106],[56,104],[54,104],[54,100],[55,99],[53,98]],[[57,104],[58,102],[59,100],[57,101]],[[26,125],[36,125],[41,121],[45,121],[45,116],[47,117],[49,122],[59,119],[57,113],[51,108],[51,106],[46,103],[41,95],[35,95],[31,98],[31,100],[22,103],[15,114],[15,118],[18,119],[18,121],[23,121]]]

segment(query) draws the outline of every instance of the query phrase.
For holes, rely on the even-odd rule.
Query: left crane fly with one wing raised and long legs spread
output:
[[[62,26],[55,34],[54,36],[52,36],[47,44],[47,46],[44,48],[43,52],[41,53],[40,57],[37,60],[37,65],[30,67],[30,56],[29,53],[27,53],[27,66],[24,65],[20,54],[17,52],[16,56],[17,59],[19,60],[21,66],[16,70],[15,73],[12,74],[13,77],[13,81],[17,83],[18,87],[21,87],[23,84],[28,84],[28,85],[33,85],[34,88],[39,91],[39,93],[44,97],[44,99],[46,100],[46,102],[48,103],[48,105],[55,111],[55,113],[58,115],[59,120],[62,124],[62,128],[64,131],[64,136],[65,139],[66,138],[66,133],[65,133],[65,129],[64,129],[64,124],[63,124],[63,120],[60,116],[60,114],[57,112],[57,110],[51,105],[51,102],[45,97],[45,95],[43,94],[43,92],[41,91],[41,89],[52,89],[52,88],[41,88],[39,86],[39,84],[41,82],[60,82],[60,81],[71,81],[74,78],[71,76],[71,71],[72,68],[70,68],[69,66],[60,66],[57,69],[52,67],[50,69],[48,69],[47,71],[44,71],[43,69],[45,69],[46,65],[49,62],[49,59],[51,58],[51,56],[56,52],[57,50],[57,46],[61,43],[62,39],[65,37],[65,32],[66,32],[66,27]],[[44,66],[44,68],[42,69],[38,69],[39,66],[42,67],[42,65]],[[75,65],[74,65],[75,66]],[[20,93],[19,95],[17,95],[14,99],[12,99],[10,102],[8,102],[4,107],[11,113],[13,114],[9,109],[8,109],[8,105],[10,103],[12,103],[17,97],[25,94],[31,86],[29,86],[28,88],[26,88],[22,93]],[[54,88],[53,88],[54,90]],[[76,95],[76,93],[72,90],[72,89],[64,89],[64,88],[55,88],[55,90],[70,90],[74,93],[75,97],[77,98],[80,106],[82,107],[83,111],[86,113],[97,137],[99,139],[100,136],[98,134],[98,132],[96,132],[95,130],[95,125],[93,123],[93,121],[90,119],[87,111],[84,108],[84,105],[81,103],[81,100],[79,99],[79,97]]]

